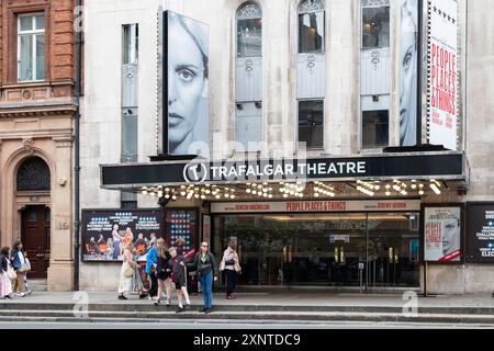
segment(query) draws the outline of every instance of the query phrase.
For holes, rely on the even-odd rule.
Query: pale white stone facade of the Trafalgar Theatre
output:
[[[294,141],[296,135],[295,0],[262,0],[263,24],[263,139]],[[461,117],[463,148],[471,168],[467,194],[424,197],[424,203],[494,201],[493,114],[490,93],[494,84],[494,2],[461,0],[460,44]],[[120,207],[120,193],[100,189],[99,165],[119,163],[121,157],[122,25],[139,24],[138,160],[156,154],[157,10],[173,10],[210,24],[211,141],[231,157],[235,125],[235,13],[243,0],[88,0],[86,1],[86,97],[81,138],[81,208]],[[403,1],[391,1],[391,33],[398,33]],[[326,1],[325,144],[321,154],[357,155],[360,149],[360,1]],[[467,36],[468,33],[468,36]],[[398,35],[391,35],[393,48]],[[390,145],[400,143],[398,50],[394,49],[391,89]],[[263,150],[265,152],[267,149]],[[287,155],[292,149],[284,150]],[[187,204],[190,206],[190,204]],[[155,207],[156,199],[138,196],[139,207]],[[81,263],[81,287],[115,290],[117,264]],[[433,265],[428,286],[437,293],[489,292],[494,286],[492,267]]]

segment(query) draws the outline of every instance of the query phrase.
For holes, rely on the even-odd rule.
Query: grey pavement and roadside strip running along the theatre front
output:
[[[418,297],[412,292],[371,293],[322,290],[239,291],[237,299],[215,294],[214,312],[199,313],[202,295],[192,295],[192,309],[176,314],[176,306],[154,306],[148,299],[130,296],[119,301],[108,292],[38,292],[12,301],[0,301],[0,322],[212,322],[238,325],[296,322],[330,326],[352,322],[441,324],[494,328],[494,298],[485,295],[439,295]],[[413,296],[414,298],[409,298]],[[172,303],[177,299],[173,296]],[[248,321],[248,322],[247,322]]]

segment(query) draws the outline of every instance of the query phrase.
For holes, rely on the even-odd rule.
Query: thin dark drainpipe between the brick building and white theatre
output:
[[[82,15],[82,0],[76,0],[78,9],[75,15]],[[80,259],[80,95],[81,95],[81,60],[82,27],[76,31],[76,84],[74,99],[74,290],[79,291],[79,259]]]

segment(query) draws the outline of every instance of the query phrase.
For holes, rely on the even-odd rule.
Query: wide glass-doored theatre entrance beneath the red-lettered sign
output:
[[[418,213],[215,215],[237,242],[240,285],[417,287]]]

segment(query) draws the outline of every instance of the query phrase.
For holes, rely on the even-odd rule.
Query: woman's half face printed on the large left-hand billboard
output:
[[[168,31],[168,138],[179,145],[192,133],[207,84],[203,54],[192,34],[175,18]]]

